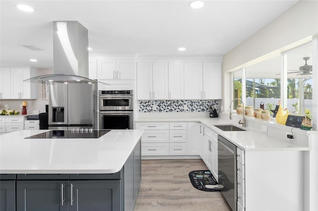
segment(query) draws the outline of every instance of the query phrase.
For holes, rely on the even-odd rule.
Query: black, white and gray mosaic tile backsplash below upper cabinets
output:
[[[139,112],[209,112],[210,105],[219,110],[218,100],[139,101]]]

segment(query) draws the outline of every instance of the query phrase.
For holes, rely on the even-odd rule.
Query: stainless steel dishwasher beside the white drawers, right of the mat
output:
[[[220,135],[218,135],[218,167],[220,191],[232,210],[237,211],[237,147]]]

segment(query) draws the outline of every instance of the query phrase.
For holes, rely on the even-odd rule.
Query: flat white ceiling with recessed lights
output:
[[[190,0],[0,0],[0,65],[52,68],[52,22],[59,20],[88,29],[91,53],[224,55],[298,1],[204,0],[192,9]]]

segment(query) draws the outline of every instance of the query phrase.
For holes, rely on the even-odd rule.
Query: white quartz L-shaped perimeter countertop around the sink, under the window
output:
[[[234,145],[244,151],[309,151],[310,144],[307,140],[284,140],[268,135],[261,131],[256,131],[244,127],[246,131],[223,131],[214,125],[234,124],[227,118],[209,118],[209,117],[164,117],[164,118],[138,118],[136,122],[200,122],[210,128],[217,134],[223,136]],[[257,120],[262,121],[262,120]],[[238,127],[241,125],[234,124]],[[300,130],[296,128],[295,130]],[[285,133],[285,132],[284,132]]]

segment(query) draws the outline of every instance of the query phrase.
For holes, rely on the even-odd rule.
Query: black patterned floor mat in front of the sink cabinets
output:
[[[197,170],[189,173],[190,181],[201,191],[220,191],[218,182],[209,170]]]

